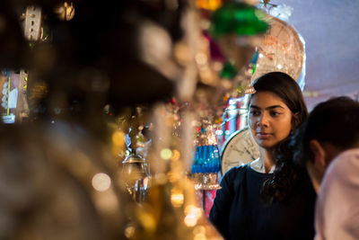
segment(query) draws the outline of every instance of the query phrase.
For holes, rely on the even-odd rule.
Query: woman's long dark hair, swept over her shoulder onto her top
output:
[[[296,114],[296,118],[292,118],[291,134],[282,140],[276,149],[274,149],[276,170],[274,174],[263,183],[261,190],[261,195],[264,200],[268,202],[282,201],[290,195],[298,177],[300,177],[302,173],[305,173],[305,171],[301,171],[298,169],[298,166],[293,163],[293,154],[289,148],[289,142],[293,136],[293,131],[308,118],[308,110],[302,96],[301,88],[291,76],[285,73],[271,72],[260,76],[253,83],[253,87],[257,93],[275,93],[276,96],[285,102],[292,113]]]

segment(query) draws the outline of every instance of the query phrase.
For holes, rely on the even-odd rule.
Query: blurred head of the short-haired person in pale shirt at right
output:
[[[293,147],[318,192],[328,164],[341,152],[359,147],[359,102],[341,96],[318,104],[296,133]]]

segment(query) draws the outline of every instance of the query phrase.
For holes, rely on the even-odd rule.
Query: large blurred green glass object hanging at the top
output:
[[[261,20],[264,15],[250,4],[226,3],[213,13],[210,31],[215,38],[227,34],[251,36],[264,33],[268,28],[267,22]]]

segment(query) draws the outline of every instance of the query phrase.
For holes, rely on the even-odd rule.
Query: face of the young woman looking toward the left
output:
[[[292,111],[275,93],[258,92],[250,99],[249,125],[259,147],[270,149],[292,129]]]

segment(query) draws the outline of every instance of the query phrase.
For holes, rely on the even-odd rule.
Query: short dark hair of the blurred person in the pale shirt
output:
[[[302,127],[297,130],[291,146],[294,159],[305,165],[312,161],[309,147],[312,139],[329,143],[343,150],[359,142],[359,102],[340,96],[320,102],[310,113]]]

